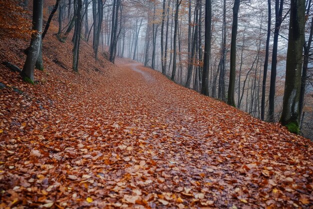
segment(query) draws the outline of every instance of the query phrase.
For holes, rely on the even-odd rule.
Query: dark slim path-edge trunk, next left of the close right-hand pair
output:
[[[238,27],[238,11],[239,11],[240,0],[235,0],[232,12],[232,28],[231,28],[231,45],[230,45],[230,72],[229,72],[229,86],[227,95],[227,104],[231,106],[235,105],[234,100],[234,85],[236,80],[236,38],[237,38],[237,27]]]

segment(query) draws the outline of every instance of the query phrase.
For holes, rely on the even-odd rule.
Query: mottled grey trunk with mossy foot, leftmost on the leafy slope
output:
[[[28,50],[26,61],[23,66],[23,70],[20,72],[23,80],[30,83],[33,83],[34,80],[33,71],[41,43],[42,10],[43,0],[34,0],[32,12],[32,30],[34,30],[35,32],[33,32],[31,35],[30,47]]]

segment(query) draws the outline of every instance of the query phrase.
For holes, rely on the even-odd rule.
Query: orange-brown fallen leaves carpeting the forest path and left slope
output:
[[[26,42],[0,46],[22,67]],[[0,65],[0,208],[313,207],[307,139],[84,42],[79,74],[70,44],[44,46],[36,85]]]

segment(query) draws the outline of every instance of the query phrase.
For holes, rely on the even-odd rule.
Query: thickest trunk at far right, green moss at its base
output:
[[[291,0],[290,3],[286,78],[280,123],[290,132],[298,133],[305,0]]]

